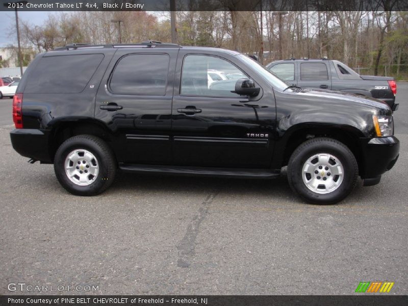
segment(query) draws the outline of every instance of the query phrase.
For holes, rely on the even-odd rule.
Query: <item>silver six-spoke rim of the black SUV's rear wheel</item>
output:
[[[79,186],[95,182],[99,172],[96,157],[88,150],[75,149],[65,159],[65,173],[68,179]]]

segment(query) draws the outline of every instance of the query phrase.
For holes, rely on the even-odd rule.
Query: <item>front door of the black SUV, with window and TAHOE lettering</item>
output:
[[[221,80],[214,81],[210,73]],[[251,100],[234,93],[237,79],[250,75],[238,68],[233,59],[181,49],[175,76],[172,134],[176,165],[270,165],[274,100]]]

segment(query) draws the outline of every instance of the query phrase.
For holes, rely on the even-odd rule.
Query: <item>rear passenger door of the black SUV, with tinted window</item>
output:
[[[123,48],[112,59],[95,118],[113,135],[118,162],[171,163],[171,100],[178,48]]]

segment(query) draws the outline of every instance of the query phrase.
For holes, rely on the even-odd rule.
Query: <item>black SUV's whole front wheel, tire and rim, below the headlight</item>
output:
[[[312,159],[312,157],[315,157],[316,155],[319,156],[320,154],[322,157],[324,157],[325,154],[328,154],[336,158],[329,159],[328,166],[331,166],[333,168],[328,168],[328,171],[331,171],[330,169],[336,171],[339,165],[343,168],[343,175],[337,175],[337,182],[339,183],[333,183],[329,181],[334,181],[336,175],[332,175],[331,177],[327,176],[327,174],[331,174],[328,171],[324,172],[324,169],[326,169],[324,168],[324,166],[321,170],[322,172],[319,172],[320,170],[318,169],[320,169],[319,165],[321,164],[319,158],[317,158],[319,162],[316,162],[316,159]],[[309,167],[309,171],[303,171],[303,166],[306,162],[308,162],[310,166],[312,166],[312,164],[315,162],[317,168],[313,169],[312,167]],[[334,163],[334,165],[331,165],[330,163]],[[312,175],[316,176],[311,177],[311,174],[308,172],[312,171]],[[318,173],[316,173],[315,171],[318,171]],[[288,181],[290,187],[302,199],[313,204],[334,204],[343,200],[355,187],[358,173],[358,164],[350,149],[340,141],[325,137],[314,138],[303,142],[295,149],[288,163]],[[340,177],[341,181],[339,181]],[[310,188],[312,189],[310,189],[307,185],[307,183],[312,182],[312,179],[315,180],[315,182],[317,182],[318,184],[320,184],[320,181],[316,180],[322,180],[322,184],[318,185],[317,189],[314,189],[316,191],[312,190],[313,184],[310,185]],[[323,179],[325,181],[323,181]],[[338,186],[333,186],[333,188],[337,189],[330,191],[324,189],[323,186],[326,186],[325,184],[338,184]],[[321,194],[319,192],[327,193]]]

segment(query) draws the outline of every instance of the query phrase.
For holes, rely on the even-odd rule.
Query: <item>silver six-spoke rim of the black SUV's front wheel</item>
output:
[[[313,192],[319,194],[333,192],[340,187],[343,178],[343,165],[333,155],[316,154],[303,164],[303,183]]]

